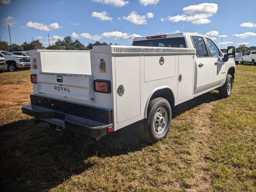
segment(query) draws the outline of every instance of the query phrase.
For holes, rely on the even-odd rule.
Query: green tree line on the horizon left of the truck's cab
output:
[[[12,50],[33,50],[33,49],[49,49],[49,50],[90,50],[94,45],[108,45],[106,42],[96,41],[94,44],[89,43],[87,46],[82,44],[78,39],[72,40],[70,36],[64,37],[63,40],[57,40],[54,45],[44,47],[39,40],[34,40],[30,43],[23,42],[23,44],[18,45],[13,43]],[[112,43],[110,43],[112,45]],[[117,45],[117,44],[115,44]],[[6,41],[0,42],[0,50],[10,51],[11,47]]]

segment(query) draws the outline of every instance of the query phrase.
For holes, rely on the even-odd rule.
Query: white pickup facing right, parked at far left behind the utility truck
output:
[[[10,72],[16,71],[18,68],[30,68],[29,56],[16,56],[8,51],[0,51],[0,57],[5,58]]]

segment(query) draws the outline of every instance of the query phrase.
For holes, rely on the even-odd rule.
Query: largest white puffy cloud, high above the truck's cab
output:
[[[197,5],[190,5],[184,7],[182,10],[184,14],[168,16],[166,19],[171,22],[187,21],[198,25],[207,24],[211,22],[208,17],[213,16],[218,11],[218,4],[202,3]],[[164,18],[161,18],[161,21],[164,21]]]

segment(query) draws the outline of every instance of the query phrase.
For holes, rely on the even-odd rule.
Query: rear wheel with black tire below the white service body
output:
[[[165,114],[165,116],[164,115],[162,116],[165,119],[165,121],[167,121],[165,122],[165,124],[164,122],[162,122],[162,119],[159,120],[158,116],[156,116],[157,114],[160,113],[160,110],[163,110],[163,108],[167,112],[167,114],[165,114],[164,112],[163,114]],[[169,132],[170,124],[172,120],[172,109],[169,102],[165,98],[161,98],[161,97],[155,98],[152,101],[150,101],[150,103],[148,104],[147,117],[148,118],[141,120],[139,122],[138,130],[139,130],[140,137],[149,143],[154,143],[165,138]],[[155,129],[156,121],[161,123],[161,127],[164,124],[163,125],[164,128],[162,129],[162,132],[159,132],[159,134],[156,133],[158,132],[158,130]]]

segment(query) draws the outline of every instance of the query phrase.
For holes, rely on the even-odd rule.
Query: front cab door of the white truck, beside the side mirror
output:
[[[212,65],[214,66],[213,83],[211,88],[224,84],[226,80],[227,64],[223,61],[223,56],[214,42],[206,38],[206,46],[209,56],[212,58]]]

